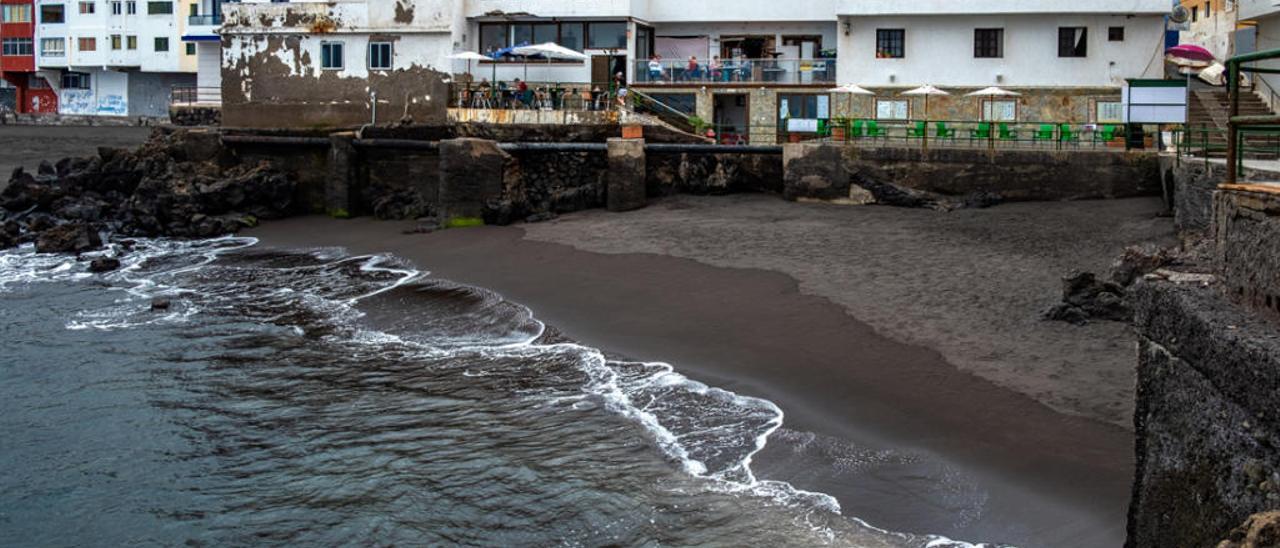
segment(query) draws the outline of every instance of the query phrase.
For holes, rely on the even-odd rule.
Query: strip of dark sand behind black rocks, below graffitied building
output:
[[[142,145],[151,128],[77,125],[0,125],[0,189],[9,174],[22,166],[35,170],[40,160],[92,156],[100,146]]]

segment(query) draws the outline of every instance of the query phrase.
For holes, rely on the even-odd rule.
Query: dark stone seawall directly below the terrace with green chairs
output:
[[[899,188],[1002,200],[1083,200],[1158,195],[1160,163],[1151,152],[970,149],[863,149],[840,143],[786,145],[788,200],[842,200],[856,188]],[[809,166],[803,166],[809,164]],[[810,173],[812,172],[812,173]]]

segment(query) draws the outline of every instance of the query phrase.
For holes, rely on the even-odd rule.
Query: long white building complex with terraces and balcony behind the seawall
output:
[[[397,76],[403,72],[521,78],[568,90],[607,88],[621,73],[632,90],[749,142],[777,140],[791,119],[919,118],[923,100],[899,93],[924,83],[955,92],[932,100],[934,119],[1112,122],[1126,78],[1162,76],[1171,6],[1170,0],[246,1],[227,4],[221,83],[224,100],[238,104],[297,100],[312,105],[291,106],[306,117],[319,115],[323,109],[314,106],[321,104],[360,105],[367,122],[374,105],[381,120],[428,101],[429,93],[407,88]],[[471,65],[470,77],[461,61],[449,60],[460,51],[547,41],[589,60],[526,65],[503,58]],[[858,83],[877,96],[829,93],[836,83]],[[1021,96],[963,96],[988,86]]]

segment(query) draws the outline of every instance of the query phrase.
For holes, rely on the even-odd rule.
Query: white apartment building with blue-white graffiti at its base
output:
[[[193,86],[196,47],[182,41],[198,4],[38,0],[36,65],[61,114],[164,117],[174,86]]]

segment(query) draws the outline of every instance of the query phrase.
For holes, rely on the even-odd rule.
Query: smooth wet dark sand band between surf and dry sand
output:
[[[769,399],[786,417],[756,455],[756,475],[832,494],[872,525],[973,542],[1123,542],[1132,433],[888,339],[786,274],[595,254],[520,228],[402,234],[408,227],[298,218],[246,236],[390,252],[526,305],[582,344]],[[919,492],[948,474],[968,487]]]

